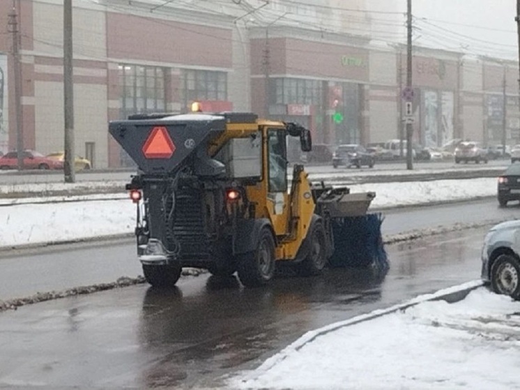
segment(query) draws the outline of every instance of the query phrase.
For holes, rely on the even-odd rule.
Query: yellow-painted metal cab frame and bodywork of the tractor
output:
[[[270,220],[276,242],[276,260],[293,260],[307,236],[315,204],[305,170],[299,172],[298,177],[293,178],[291,191],[285,188],[283,191],[270,192],[268,130],[273,129],[286,130],[286,126],[280,121],[267,120],[258,120],[257,123],[228,123],[226,131],[209,144],[208,154],[214,156],[226,142],[233,138],[250,137],[260,132],[262,175],[261,180],[256,184],[245,186],[247,199],[255,206],[254,218]],[[286,137],[289,136],[286,134]],[[286,176],[288,173],[286,172]]]

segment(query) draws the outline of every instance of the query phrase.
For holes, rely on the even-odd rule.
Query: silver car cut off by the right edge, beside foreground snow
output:
[[[481,278],[496,294],[520,299],[520,220],[491,227],[482,246]]]

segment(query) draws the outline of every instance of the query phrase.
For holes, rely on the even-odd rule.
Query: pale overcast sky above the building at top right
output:
[[[516,13],[514,0],[413,0],[415,42],[517,60]]]

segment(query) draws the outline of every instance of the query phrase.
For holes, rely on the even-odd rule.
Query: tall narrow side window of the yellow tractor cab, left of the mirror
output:
[[[269,192],[278,193],[287,190],[287,151],[285,131],[270,128],[267,130],[268,181]]]

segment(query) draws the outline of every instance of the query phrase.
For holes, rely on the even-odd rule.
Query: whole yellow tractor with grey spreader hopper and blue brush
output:
[[[137,255],[146,280],[174,285],[183,267],[237,272],[264,285],[277,264],[302,275],[332,266],[387,267],[375,193],[312,185],[286,160],[287,137],[309,130],[256,114],[136,114],[109,133],[138,167],[126,186],[137,204]]]

